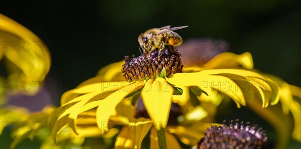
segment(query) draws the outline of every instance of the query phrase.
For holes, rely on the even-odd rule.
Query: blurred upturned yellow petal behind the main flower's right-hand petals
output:
[[[202,67],[205,68],[236,68],[242,66],[246,69],[253,69],[253,59],[249,52],[236,55],[230,52],[223,52],[208,61]]]

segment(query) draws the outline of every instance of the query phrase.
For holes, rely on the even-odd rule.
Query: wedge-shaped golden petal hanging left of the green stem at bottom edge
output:
[[[132,148],[141,148],[141,142],[152,126],[152,121],[138,121],[129,123],[129,129],[132,134],[133,141]]]

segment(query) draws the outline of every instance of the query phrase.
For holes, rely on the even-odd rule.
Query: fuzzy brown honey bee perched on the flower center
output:
[[[165,46],[169,46],[169,49],[172,53],[176,53],[175,46],[179,46],[182,44],[183,39],[179,34],[173,32],[175,30],[183,29],[188,26],[182,27],[174,27],[165,26],[162,28],[154,28],[145,31],[140,34],[138,37],[139,42],[139,51],[141,55],[145,58],[147,53],[153,52],[158,49],[159,52],[165,48]]]

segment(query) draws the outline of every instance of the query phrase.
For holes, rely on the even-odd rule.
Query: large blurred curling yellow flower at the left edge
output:
[[[1,81],[1,94],[22,92],[37,93],[50,69],[50,53],[46,45],[31,31],[0,14],[0,60],[8,71]]]

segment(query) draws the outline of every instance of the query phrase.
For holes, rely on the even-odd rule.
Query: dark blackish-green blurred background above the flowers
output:
[[[55,105],[101,67],[140,55],[139,34],[166,25],[188,25],[177,31],[184,41],[223,40],[230,52],[250,52],[255,69],[301,86],[301,1],[2,1],[0,13],[50,49]]]

